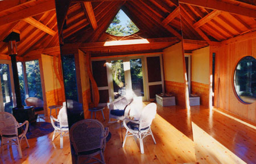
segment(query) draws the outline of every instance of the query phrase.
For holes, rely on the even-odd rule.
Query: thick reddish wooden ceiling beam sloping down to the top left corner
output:
[[[38,5],[18,10],[9,15],[0,17],[0,26],[7,23],[12,23],[30,16],[38,15],[46,11],[55,10],[55,3],[52,0],[44,1]]]

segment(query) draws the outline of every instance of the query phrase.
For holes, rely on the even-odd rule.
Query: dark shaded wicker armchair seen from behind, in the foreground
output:
[[[84,119],[73,124],[69,137],[77,156],[76,163],[85,163],[90,159],[105,163],[104,149],[108,134],[109,128],[104,128],[102,123],[96,119]],[[97,154],[100,154],[101,159],[93,157]],[[81,161],[81,158],[85,158],[85,161]]]

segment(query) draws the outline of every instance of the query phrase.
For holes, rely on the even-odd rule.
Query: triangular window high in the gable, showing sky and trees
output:
[[[115,15],[106,33],[114,36],[128,36],[139,31],[139,28],[131,21],[131,19],[120,9]]]

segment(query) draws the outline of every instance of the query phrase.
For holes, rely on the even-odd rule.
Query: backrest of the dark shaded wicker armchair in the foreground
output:
[[[84,119],[73,124],[69,130],[71,144],[76,154],[79,152],[102,149],[104,126],[96,119]]]

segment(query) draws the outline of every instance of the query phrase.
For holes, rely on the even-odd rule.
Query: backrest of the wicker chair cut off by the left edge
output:
[[[18,122],[13,115],[0,112],[0,135],[18,135]]]

